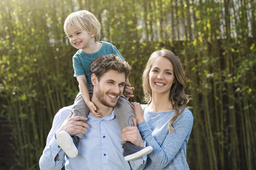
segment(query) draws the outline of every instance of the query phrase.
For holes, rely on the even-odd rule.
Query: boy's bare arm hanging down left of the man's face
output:
[[[93,102],[91,102],[85,75],[76,76],[76,79],[78,80],[80,91],[84,99],[84,103],[89,108],[89,110],[91,110],[94,117],[97,117],[97,118],[100,117],[100,114],[96,112],[96,109],[97,109],[96,106],[94,105]]]

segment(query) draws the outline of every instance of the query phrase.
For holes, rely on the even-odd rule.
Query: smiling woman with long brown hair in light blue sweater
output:
[[[143,89],[148,105],[131,103],[137,128],[153,151],[145,169],[189,169],[186,148],[193,115],[186,108],[187,79],[183,66],[169,50],[153,52],[143,72]],[[133,132],[132,132],[133,131]],[[134,141],[136,127],[126,127],[122,140]]]

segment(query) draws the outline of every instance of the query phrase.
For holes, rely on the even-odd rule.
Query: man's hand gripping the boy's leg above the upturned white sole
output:
[[[55,138],[60,131],[66,131],[69,135],[74,135],[77,133],[85,134],[86,132],[88,132],[86,128],[89,128],[89,125],[82,121],[79,121],[87,120],[87,118],[82,116],[76,116],[72,118],[72,114],[73,113],[71,112],[69,117],[62,123],[60,129],[55,133]]]

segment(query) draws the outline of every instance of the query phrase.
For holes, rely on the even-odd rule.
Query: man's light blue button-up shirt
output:
[[[78,156],[69,158],[58,147],[55,132],[60,128],[63,121],[69,116],[72,106],[60,109],[54,117],[53,127],[49,132],[46,147],[40,158],[41,169],[142,169],[146,158],[126,162],[123,157],[121,145],[121,132],[118,126],[114,110],[109,116],[95,118],[88,115],[86,123],[89,125],[88,132],[80,140]],[[54,161],[59,153],[59,160]]]

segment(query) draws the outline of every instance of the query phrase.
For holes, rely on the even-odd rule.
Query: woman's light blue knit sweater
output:
[[[185,108],[182,116],[173,123],[175,133],[172,133],[168,130],[168,122],[175,110],[149,112],[147,105],[142,107],[145,121],[137,127],[143,140],[153,147],[145,169],[189,169],[186,148],[194,119],[191,111]]]

